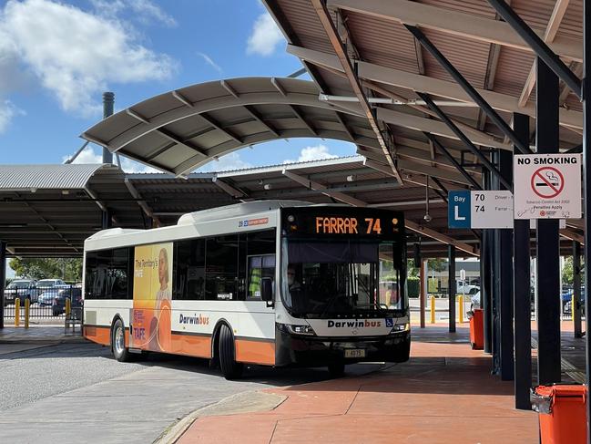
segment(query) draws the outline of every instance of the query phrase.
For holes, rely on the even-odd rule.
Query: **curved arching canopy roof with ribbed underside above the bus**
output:
[[[376,145],[366,119],[346,118],[295,78],[212,81],[148,98],[99,122],[82,137],[177,176],[270,139],[319,137]]]

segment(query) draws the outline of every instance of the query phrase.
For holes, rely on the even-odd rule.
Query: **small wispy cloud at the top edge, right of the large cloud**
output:
[[[97,14],[107,17],[117,17],[120,13],[128,10],[133,18],[140,23],[149,25],[158,22],[165,26],[177,26],[177,21],[164,12],[158,5],[150,0],[90,0],[95,6]]]

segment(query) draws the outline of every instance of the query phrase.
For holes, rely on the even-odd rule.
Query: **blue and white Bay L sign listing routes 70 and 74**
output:
[[[450,191],[449,228],[513,228],[511,191]]]

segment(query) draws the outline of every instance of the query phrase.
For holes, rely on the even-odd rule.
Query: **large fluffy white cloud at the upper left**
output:
[[[142,2],[138,2],[142,3]],[[111,82],[170,77],[175,63],[138,44],[130,26],[49,0],[9,0],[0,12],[0,60],[24,64],[61,108],[95,116]]]

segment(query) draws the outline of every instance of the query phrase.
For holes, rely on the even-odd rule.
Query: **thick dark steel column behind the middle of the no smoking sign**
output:
[[[558,152],[558,77],[537,58],[538,153]],[[560,239],[558,220],[540,219],[536,231],[537,372],[540,385],[560,382]]]

